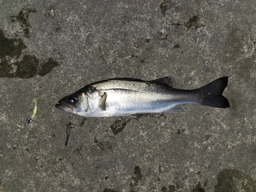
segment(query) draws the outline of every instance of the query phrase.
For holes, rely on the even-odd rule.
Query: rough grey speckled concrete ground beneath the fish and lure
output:
[[[256,191],[254,0],[2,0],[0,17],[0,191]],[[94,81],[164,76],[180,89],[229,76],[230,108],[119,119],[54,106]]]

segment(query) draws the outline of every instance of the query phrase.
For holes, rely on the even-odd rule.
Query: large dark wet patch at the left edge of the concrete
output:
[[[0,77],[32,78],[36,75],[45,76],[59,63],[52,57],[39,62],[34,55],[23,54],[26,49],[22,39],[7,38],[0,30]]]

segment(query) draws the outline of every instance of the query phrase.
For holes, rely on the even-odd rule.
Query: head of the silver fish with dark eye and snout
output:
[[[85,114],[89,110],[87,94],[84,93],[67,95],[58,102],[55,105],[56,108],[80,116],[86,116]]]

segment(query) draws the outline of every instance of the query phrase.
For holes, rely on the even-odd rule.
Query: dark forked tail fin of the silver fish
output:
[[[204,87],[199,88],[202,93],[202,105],[214,106],[215,108],[229,108],[229,102],[226,97],[222,95],[224,89],[227,87],[228,77],[221,77]]]

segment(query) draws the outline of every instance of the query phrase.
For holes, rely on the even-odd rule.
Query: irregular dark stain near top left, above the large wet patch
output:
[[[32,8],[24,8],[19,11],[18,15],[11,16],[11,22],[18,22],[24,32],[24,36],[27,38],[29,38],[29,28],[31,27],[28,20],[30,13],[36,13],[36,10]]]

